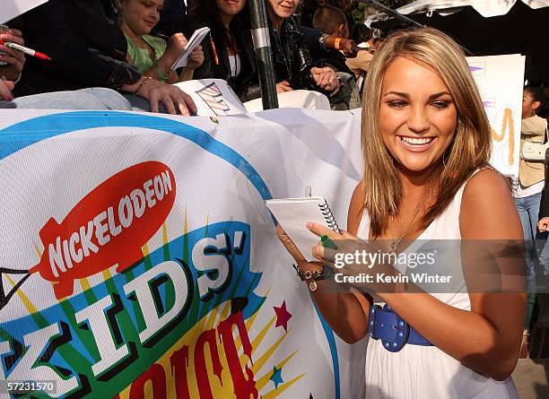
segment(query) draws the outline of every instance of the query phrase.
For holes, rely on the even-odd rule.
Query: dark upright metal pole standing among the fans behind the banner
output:
[[[252,22],[252,39],[256,50],[257,74],[259,75],[263,109],[278,108],[265,0],[250,0],[249,14]]]

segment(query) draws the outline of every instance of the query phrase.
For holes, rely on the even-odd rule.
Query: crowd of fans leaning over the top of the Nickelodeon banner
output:
[[[375,46],[368,28],[353,24],[349,2],[266,5],[277,92],[319,91],[333,109],[360,107],[360,83]],[[8,25],[0,39],[52,59],[25,59],[0,45],[6,53],[0,61],[7,63],[0,68],[0,108],[192,115],[193,101],[172,83],[205,78],[229,82],[242,101],[261,96],[246,0],[49,0]],[[187,38],[206,26],[210,34],[187,65],[172,71]]]

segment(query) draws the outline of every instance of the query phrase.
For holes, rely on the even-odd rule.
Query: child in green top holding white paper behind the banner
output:
[[[153,79],[176,83],[193,79],[195,69],[202,65],[204,53],[202,47],[193,50],[187,66],[178,75],[171,65],[187,46],[182,33],[176,33],[168,39],[151,36],[149,33],[160,20],[164,0],[115,0],[120,15],[120,28],[127,40],[126,59],[143,74]]]

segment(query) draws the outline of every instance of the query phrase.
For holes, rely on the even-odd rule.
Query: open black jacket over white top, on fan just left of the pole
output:
[[[181,31],[189,39],[195,30],[205,26],[211,29],[213,46],[210,35],[206,36],[202,42],[204,63],[196,68],[194,79],[223,79],[229,82],[232,90],[243,102],[259,97],[261,93],[258,87],[256,55],[250,31],[241,25],[238,17],[232,20],[232,37],[236,40],[237,46],[242,49],[240,51],[240,74],[236,78],[232,78],[228,46],[219,26],[197,15],[187,15],[181,25]]]

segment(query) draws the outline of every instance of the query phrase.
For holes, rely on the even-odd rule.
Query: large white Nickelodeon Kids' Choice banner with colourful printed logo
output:
[[[4,110],[2,397],[363,397],[264,204],[312,186],[344,227],[360,117]]]

